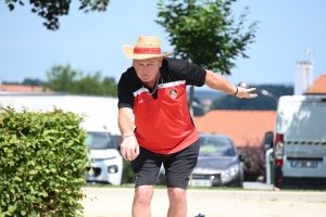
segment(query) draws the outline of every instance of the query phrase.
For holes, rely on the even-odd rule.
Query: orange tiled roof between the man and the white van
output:
[[[276,111],[212,110],[193,118],[198,132],[229,136],[236,146],[262,145],[266,131],[274,131]]]

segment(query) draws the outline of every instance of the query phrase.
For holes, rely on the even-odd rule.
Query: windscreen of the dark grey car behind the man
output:
[[[223,137],[200,137],[199,156],[235,156],[230,139]]]

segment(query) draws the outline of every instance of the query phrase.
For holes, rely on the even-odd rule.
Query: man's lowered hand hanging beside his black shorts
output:
[[[139,155],[139,145],[135,135],[126,137],[121,144],[121,155],[126,161],[134,161]]]

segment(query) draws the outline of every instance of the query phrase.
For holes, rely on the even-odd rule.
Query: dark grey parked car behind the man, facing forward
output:
[[[242,163],[228,136],[200,133],[200,151],[197,166],[189,177],[192,187],[243,187]],[[159,184],[165,184],[164,167],[161,167]]]

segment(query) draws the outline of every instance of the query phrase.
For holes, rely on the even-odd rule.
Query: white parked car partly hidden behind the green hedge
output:
[[[100,126],[87,126],[86,143],[90,149],[89,161],[93,161],[85,174],[85,180],[93,183],[122,183],[123,157],[116,139]],[[89,170],[92,169],[92,173]]]

